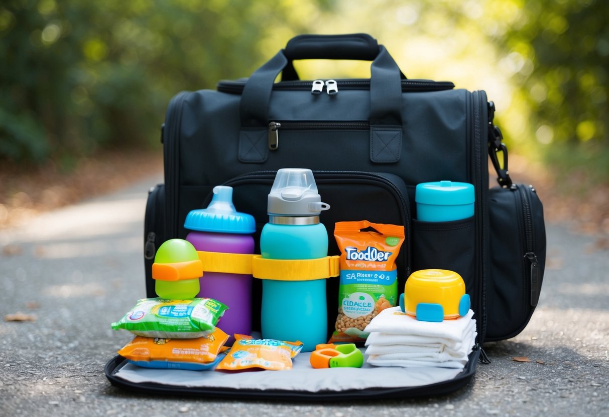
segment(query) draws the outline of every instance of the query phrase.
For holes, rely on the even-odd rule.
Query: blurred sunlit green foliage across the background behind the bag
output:
[[[511,150],[609,181],[607,16],[602,0],[5,0],[0,160],[151,146],[178,91],[247,77],[299,33],[367,32],[411,78],[486,89]]]

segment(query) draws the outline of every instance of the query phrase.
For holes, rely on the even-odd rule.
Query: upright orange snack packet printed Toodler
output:
[[[339,312],[329,342],[361,342],[370,320],[398,301],[395,260],[404,226],[337,222],[334,237],[340,249]]]

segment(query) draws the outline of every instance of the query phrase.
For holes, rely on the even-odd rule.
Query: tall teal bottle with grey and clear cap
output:
[[[268,198],[269,222],[262,228],[262,258],[296,260],[328,255],[328,233],[319,222],[322,210],[313,173],[308,169],[277,171]],[[328,334],[326,280],[262,280],[262,337],[303,342],[314,351]]]

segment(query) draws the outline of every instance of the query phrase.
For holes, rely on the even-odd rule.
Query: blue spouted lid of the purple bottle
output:
[[[256,231],[254,216],[238,212],[233,205],[233,187],[218,185],[206,209],[191,210],[185,229],[197,232],[242,233]]]

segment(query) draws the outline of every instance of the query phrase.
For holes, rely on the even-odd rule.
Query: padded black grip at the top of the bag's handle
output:
[[[282,81],[299,80],[294,60],[361,60],[372,61],[379,54],[379,44],[367,33],[348,35],[298,35],[283,50],[287,65],[281,72]],[[400,71],[400,77],[406,76]]]

